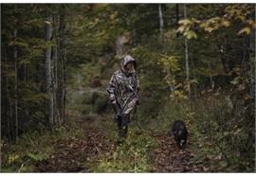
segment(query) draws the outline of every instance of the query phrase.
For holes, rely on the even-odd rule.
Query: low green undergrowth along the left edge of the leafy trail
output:
[[[71,136],[81,137],[82,131],[61,127],[54,132],[24,133],[15,145],[1,141],[1,172],[33,172],[34,163],[46,161],[58,142]]]

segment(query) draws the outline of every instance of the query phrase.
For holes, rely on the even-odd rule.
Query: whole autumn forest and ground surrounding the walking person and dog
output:
[[[139,105],[118,146],[126,55]],[[255,65],[254,4],[2,4],[1,172],[254,172]]]

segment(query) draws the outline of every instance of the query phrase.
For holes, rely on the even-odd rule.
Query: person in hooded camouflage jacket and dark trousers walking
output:
[[[136,73],[137,62],[134,58],[126,56],[120,66],[120,70],[111,77],[107,92],[114,106],[119,139],[123,141],[127,136],[130,114],[138,104],[139,79]]]

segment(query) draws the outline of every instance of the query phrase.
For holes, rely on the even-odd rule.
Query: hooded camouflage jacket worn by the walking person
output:
[[[125,65],[128,62],[134,62],[134,68],[128,72]],[[139,88],[139,79],[136,73],[137,62],[131,56],[126,56],[121,62],[121,69],[116,71],[109,81],[107,92],[110,100],[116,100],[118,111],[123,108],[123,114],[130,114],[137,105],[137,94]]]

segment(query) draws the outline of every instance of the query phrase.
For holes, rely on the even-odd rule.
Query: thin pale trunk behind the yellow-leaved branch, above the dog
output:
[[[184,18],[187,18],[187,7],[184,4]],[[188,39],[185,37],[186,81],[188,83],[189,98],[191,99],[190,65]]]

